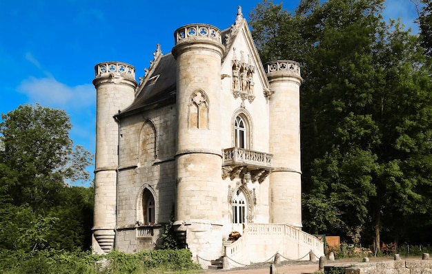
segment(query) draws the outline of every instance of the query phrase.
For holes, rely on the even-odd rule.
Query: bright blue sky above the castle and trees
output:
[[[0,113],[24,103],[65,109],[72,140],[94,154],[92,79],[97,63],[129,63],[137,77],[143,76],[156,44],[170,52],[181,25],[209,23],[222,30],[234,23],[237,6],[248,19],[257,3],[261,1],[0,0]],[[284,8],[294,10],[298,3],[286,0]],[[418,32],[410,0],[386,0],[384,17],[400,17]]]

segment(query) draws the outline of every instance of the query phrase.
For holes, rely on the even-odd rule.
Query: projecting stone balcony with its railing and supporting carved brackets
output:
[[[263,182],[273,170],[273,154],[230,147],[222,151],[222,178]]]

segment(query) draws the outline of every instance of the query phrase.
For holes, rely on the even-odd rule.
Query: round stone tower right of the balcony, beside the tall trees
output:
[[[302,178],[300,162],[300,65],[279,60],[264,65],[271,86],[270,174],[271,222],[302,228]]]

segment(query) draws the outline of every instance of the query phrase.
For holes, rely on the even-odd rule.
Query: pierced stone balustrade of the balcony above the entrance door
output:
[[[242,164],[268,168],[273,167],[273,154],[265,152],[231,147],[224,149],[222,155],[224,156],[223,165]]]

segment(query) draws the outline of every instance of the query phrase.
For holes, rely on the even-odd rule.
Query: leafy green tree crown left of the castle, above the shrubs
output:
[[[1,115],[2,185],[13,204],[29,204],[35,212],[59,203],[68,182],[89,180],[92,156],[69,137],[69,116],[60,109],[21,105]]]

